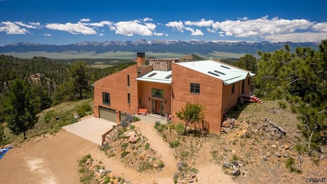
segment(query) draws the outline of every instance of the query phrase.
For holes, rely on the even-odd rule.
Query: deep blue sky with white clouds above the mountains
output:
[[[327,2],[0,0],[0,45],[16,42],[327,39]]]

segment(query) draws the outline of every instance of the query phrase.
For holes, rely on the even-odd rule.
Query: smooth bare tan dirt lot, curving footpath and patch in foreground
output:
[[[172,176],[178,169],[172,148],[162,140],[152,123],[139,121],[134,125],[148,138],[152,148],[161,154],[165,163],[161,172],[141,174],[125,166],[119,159],[105,155],[99,150],[99,145],[60,130],[54,135],[37,137],[10,149],[0,160],[0,178],[6,183],[80,183],[79,160],[90,154],[130,183],[173,183]],[[210,153],[206,154],[197,163],[199,173],[196,183],[233,183],[231,176],[223,173],[221,165],[211,162]]]

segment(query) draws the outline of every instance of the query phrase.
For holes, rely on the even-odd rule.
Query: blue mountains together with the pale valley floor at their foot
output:
[[[133,59],[137,52],[145,52],[146,57],[155,58],[180,58],[185,55],[195,54],[202,58],[240,58],[245,54],[255,57],[257,51],[273,52],[283,49],[284,44],[289,44],[291,49],[297,47],[310,47],[317,49],[317,42],[212,42],[212,41],[83,41],[67,45],[39,44],[19,42],[0,47],[0,54],[12,55],[19,58],[33,58],[43,56],[51,59],[76,59],[76,58],[119,58]]]

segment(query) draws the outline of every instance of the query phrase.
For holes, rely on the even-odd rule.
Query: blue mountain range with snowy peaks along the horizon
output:
[[[255,54],[257,51],[273,52],[283,49],[284,44],[289,44],[291,49],[297,47],[310,47],[317,50],[317,42],[227,42],[227,41],[147,41],[139,39],[136,41],[83,41],[67,45],[39,44],[33,42],[19,42],[0,47],[0,53],[24,53],[24,52],[49,52],[60,53],[66,51],[74,52],[153,52],[153,53],[179,53],[179,54],[209,54],[213,52],[247,53]]]

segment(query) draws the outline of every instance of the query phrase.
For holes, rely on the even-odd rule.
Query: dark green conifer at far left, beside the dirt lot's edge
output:
[[[29,90],[27,82],[20,79],[11,83],[6,96],[4,108],[7,127],[15,135],[24,133],[26,139],[26,131],[34,128],[38,120],[39,100]]]

